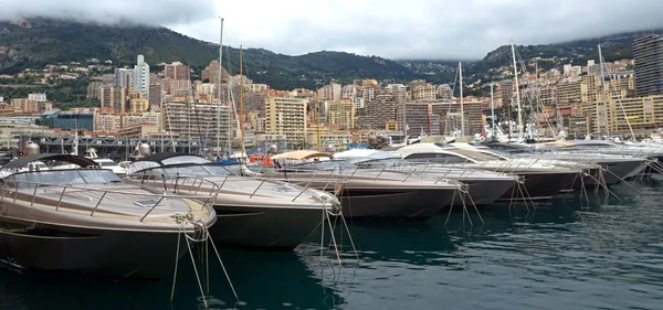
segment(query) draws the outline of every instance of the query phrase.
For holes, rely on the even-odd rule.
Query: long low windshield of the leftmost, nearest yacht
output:
[[[117,174],[109,170],[59,170],[33,171],[11,175],[9,181],[18,181],[19,186],[33,188],[48,184],[106,184],[123,183]]]

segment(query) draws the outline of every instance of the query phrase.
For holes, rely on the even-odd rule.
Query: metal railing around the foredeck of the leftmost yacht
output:
[[[32,191],[32,193],[30,192],[25,192],[25,191],[21,191],[21,184],[25,184],[28,185],[25,189],[31,189],[32,186],[34,186],[34,190]],[[101,183],[99,183],[101,184]],[[94,184],[93,184],[94,185]],[[13,202],[17,202],[17,200],[19,201],[30,201],[30,206],[34,206],[35,205],[35,201],[39,197],[39,193],[38,193],[38,189],[43,189],[44,191],[46,189],[62,189],[62,192],[60,193],[60,197],[57,199],[57,204],[55,205],[55,211],[57,212],[64,212],[63,210],[72,210],[72,207],[63,207],[63,199],[65,196],[65,193],[67,191],[70,191],[70,193],[73,190],[78,190],[78,191],[85,191],[85,192],[94,192],[94,193],[99,193],[99,199],[96,201],[96,203],[94,204],[94,207],[91,210],[90,212],[90,216],[94,216],[94,214],[97,212],[98,207],[102,205],[102,202],[104,202],[104,200],[108,201],[109,199],[107,199],[106,196],[108,194],[118,194],[118,195],[124,195],[124,196],[139,196],[141,199],[151,199],[149,202],[149,204],[151,204],[151,207],[147,210],[147,212],[140,217],[140,222],[143,222],[157,206],[159,206],[161,204],[162,201],[165,200],[196,200],[198,202],[201,203],[201,207],[207,210],[208,212],[211,211],[211,203],[214,199],[215,199],[215,194],[211,194],[211,195],[179,195],[179,194],[168,194],[168,193],[162,193],[162,194],[157,194],[157,193],[131,193],[131,192],[127,192],[127,191],[120,191],[120,190],[106,190],[106,189],[95,189],[95,188],[88,188],[88,186],[78,186],[78,185],[74,185],[71,183],[42,183],[42,182],[31,182],[31,181],[18,181],[18,180],[0,180],[0,201],[4,201],[6,199],[10,199]],[[19,199],[19,194],[21,195],[29,195],[27,199]],[[90,202],[93,203],[94,201],[92,200],[92,197],[88,197]],[[154,202],[154,203],[152,203]],[[126,206],[122,207],[122,206],[114,206],[115,209],[128,209]],[[189,205],[190,211],[194,211],[192,210],[192,207]],[[86,211],[84,209],[78,209],[81,212]],[[80,212],[77,212],[80,213]]]

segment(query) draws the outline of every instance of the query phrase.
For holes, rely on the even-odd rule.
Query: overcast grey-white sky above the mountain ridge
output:
[[[160,24],[197,39],[297,55],[481,58],[513,38],[555,43],[663,28],[662,0],[0,0],[0,19]]]

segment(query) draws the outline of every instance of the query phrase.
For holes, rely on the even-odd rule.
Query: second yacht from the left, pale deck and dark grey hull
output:
[[[234,175],[196,154],[161,152],[129,164],[128,182],[178,194],[214,194],[215,243],[227,247],[292,250],[338,214],[336,196],[277,180]]]

